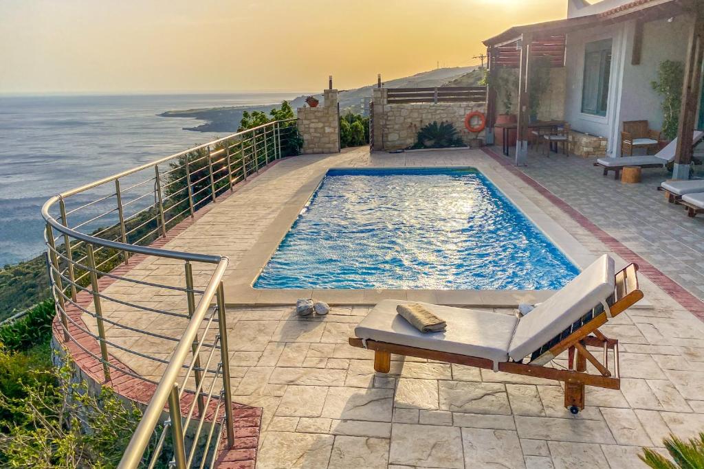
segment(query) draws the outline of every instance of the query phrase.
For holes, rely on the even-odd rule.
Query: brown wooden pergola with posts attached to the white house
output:
[[[691,15],[695,18],[689,33],[686,53],[685,79],[682,87],[682,108],[679,119],[677,156],[675,159],[677,178],[678,165],[689,175],[692,159],[691,141],[695,127],[696,110],[701,91],[701,69],[704,53],[704,0],[635,0],[610,11],[565,20],[547,21],[534,25],[515,26],[484,41],[489,56],[489,86],[486,98],[486,122],[489,139],[494,136],[496,124],[496,82],[499,68],[517,68],[518,123],[516,144],[516,165],[525,165],[528,151],[528,103],[530,68],[534,58],[549,56],[553,67],[565,66],[565,48],[570,32],[591,27],[611,25],[628,20],[636,20],[636,38],[631,63],[638,65],[643,44],[643,24],[677,15]],[[683,136],[689,136],[683,138]]]

